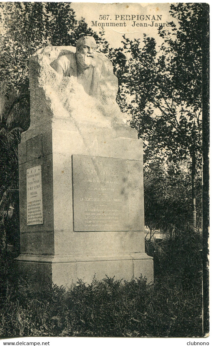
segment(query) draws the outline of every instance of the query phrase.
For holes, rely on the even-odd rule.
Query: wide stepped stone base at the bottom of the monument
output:
[[[149,283],[153,283],[153,259],[146,253],[102,256],[20,255],[16,261],[20,274],[38,287],[45,282],[68,288],[78,279],[90,284],[94,275],[97,280],[102,280],[107,275],[115,276],[116,280],[129,281],[142,274]]]

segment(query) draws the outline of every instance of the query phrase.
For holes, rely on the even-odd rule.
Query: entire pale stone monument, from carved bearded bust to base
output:
[[[31,58],[29,129],[19,145],[19,270],[70,285],[153,281],[144,250],[142,140],[116,102],[118,80],[93,37]]]

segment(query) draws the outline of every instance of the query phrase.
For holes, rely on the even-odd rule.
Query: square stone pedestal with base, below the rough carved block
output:
[[[94,275],[130,280],[140,274],[153,281],[153,260],[144,250],[142,140],[122,127],[95,124],[94,131],[91,122],[55,117],[22,134],[17,261],[35,282],[70,285],[78,278],[90,283]],[[41,182],[36,176],[29,185],[27,172],[36,167]],[[42,224],[34,225],[39,208],[27,214],[27,191],[40,183]]]

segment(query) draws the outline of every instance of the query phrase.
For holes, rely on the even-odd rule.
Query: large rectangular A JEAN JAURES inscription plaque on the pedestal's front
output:
[[[74,231],[129,231],[126,160],[72,155]]]

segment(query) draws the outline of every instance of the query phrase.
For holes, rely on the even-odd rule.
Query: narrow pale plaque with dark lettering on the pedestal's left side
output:
[[[41,166],[27,170],[27,225],[43,223]]]

